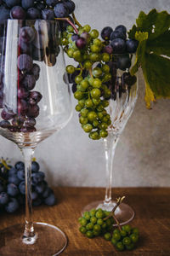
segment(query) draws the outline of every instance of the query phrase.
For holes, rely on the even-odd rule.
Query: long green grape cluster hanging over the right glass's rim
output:
[[[111,97],[111,90],[105,84],[111,81],[110,67],[106,64],[111,55],[102,51],[105,42],[98,38],[99,32],[91,30],[89,25],[79,27],[80,38],[74,40],[74,37],[77,35],[73,27],[67,26],[61,43],[65,45],[67,55],[79,62],[79,67],[69,65],[66,72],[73,74],[78,71],[72,82],[77,84],[74,97],[77,99],[79,122],[90,138],[98,140],[107,137],[107,129],[111,125],[110,114],[105,109]]]

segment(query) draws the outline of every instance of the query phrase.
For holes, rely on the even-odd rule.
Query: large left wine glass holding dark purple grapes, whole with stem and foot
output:
[[[37,144],[71,119],[71,96],[57,21],[8,20],[1,25],[0,134],[20,148],[26,172],[26,224],[0,231],[0,254],[58,255],[65,234],[33,223],[31,158]],[[33,253],[33,254],[32,254]]]

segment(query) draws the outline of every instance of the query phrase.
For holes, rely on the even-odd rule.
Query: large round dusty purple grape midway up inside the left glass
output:
[[[20,55],[18,57],[18,68],[20,69],[20,71],[31,71],[33,67],[33,61],[30,55]]]

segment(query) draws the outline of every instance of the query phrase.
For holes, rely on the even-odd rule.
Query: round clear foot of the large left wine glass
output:
[[[22,241],[24,226],[24,224],[16,224],[0,230],[1,256],[55,256],[65,249],[67,245],[65,233],[54,225],[34,223],[37,240],[30,245]]]

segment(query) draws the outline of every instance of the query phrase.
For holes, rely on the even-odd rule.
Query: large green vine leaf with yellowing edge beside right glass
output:
[[[145,102],[170,98],[170,15],[152,9],[148,15],[140,12],[136,25],[128,32],[129,38],[139,41],[134,74],[142,67],[145,81]]]

